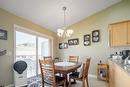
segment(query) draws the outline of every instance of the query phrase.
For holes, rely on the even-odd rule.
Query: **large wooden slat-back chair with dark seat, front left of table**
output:
[[[39,63],[42,75],[42,87],[46,85],[57,87],[62,84],[66,87],[66,79],[55,75],[54,61],[51,58],[39,60]]]

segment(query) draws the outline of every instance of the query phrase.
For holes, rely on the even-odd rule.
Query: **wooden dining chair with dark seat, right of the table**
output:
[[[85,87],[85,80],[86,80],[87,87],[89,87],[88,70],[89,70],[90,60],[91,58],[88,58],[86,62],[83,63],[83,68],[82,68],[83,72],[81,77],[79,77],[80,72],[75,72],[69,75],[69,87],[71,86],[71,79],[82,81],[82,87]]]

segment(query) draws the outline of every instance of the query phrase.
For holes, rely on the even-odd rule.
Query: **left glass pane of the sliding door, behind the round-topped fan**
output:
[[[26,61],[27,77],[36,76],[36,36],[16,31],[16,61]]]

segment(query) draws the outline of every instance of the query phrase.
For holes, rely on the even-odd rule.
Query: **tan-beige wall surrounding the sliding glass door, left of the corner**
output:
[[[44,19],[43,19],[44,20]],[[32,29],[33,31],[37,31],[43,33],[48,36],[52,36],[54,38],[54,57],[56,56],[56,45],[57,45],[57,36],[54,32],[48,31],[47,29],[36,25],[30,21],[27,21],[23,18],[17,17],[3,9],[0,9],[0,27],[8,31],[8,40],[0,40],[0,48],[7,49],[8,52],[12,52],[11,54],[7,54],[4,56],[0,56],[0,85],[8,85],[13,83],[13,25],[17,24],[19,26]]]

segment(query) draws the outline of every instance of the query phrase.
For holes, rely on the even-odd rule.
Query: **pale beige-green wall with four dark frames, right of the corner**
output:
[[[123,2],[72,25],[71,29],[74,29],[74,35],[71,38],[79,38],[80,43],[76,46],[69,46],[68,49],[59,50],[59,57],[68,58],[69,55],[78,55],[80,56],[80,61],[83,61],[86,57],[90,56],[92,61],[89,73],[96,75],[96,65],[100,60],[106,62],[110,53],[130,49],[130,47],[109,48],[108,46],[108,25],[124,20],[130,20],[130,0],[123,0]],[[90,46],[84,46],[83,35],[91,34],[96,29],[100,30],[100,42],[91,43]],[[67,40],[65,39],[64,41]],[[59,41],[62,42],[60,39]]]

